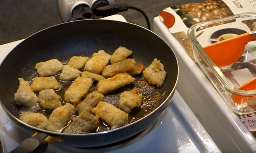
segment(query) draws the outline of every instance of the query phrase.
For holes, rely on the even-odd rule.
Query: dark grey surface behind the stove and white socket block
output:
[[[153,19],[166,7],[204,0],[115,0],[141,8],[148,16],[151,27]],[[0,45],[23,39],[47,27],[61,23],[57,0],[1,0]],[[119,13],[128,22],[146,26],[144,16],[135,10]]]

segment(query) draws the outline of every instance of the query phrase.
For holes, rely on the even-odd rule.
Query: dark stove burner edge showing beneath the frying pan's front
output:
[[[48,149],[54,150],[54,149],[58,149],[59,151],[61,150],[65,150],[67,152],[109,152],[112,150],[117,150],[120,148],[124,148],[128,145],[131,145],[132,143],[136,142],[137,140],[141,139],[142,137],[144,137],[146,134],[148,134],[153,128],[154,125],[157,121],[155,121],[153,124],[151,124],[150,126],[148,126],[145,130],[143,130],[142,132],[127,138],[125,140],[119,141],[119,142],[115,142],[112,143],[110,145],[104,145],[104,146],[99,146],[99,147],[89,147],[89,148],[71,148],[71,147],[63,147],[63,146],[59,146],[59,145],[49,145]],[[49,148],[51,147],[51,148]],[[53,148],[52,148],[53,147]]]

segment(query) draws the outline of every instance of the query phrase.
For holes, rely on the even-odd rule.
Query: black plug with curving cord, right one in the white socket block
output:
[[[139,11],[140,13],[143,14],[143,16],[146,19],[147,22],[147,27],[148,30],[150,30],[150,21],[146,15],[146,13],[141,10],[138,7],[134,7],[134,6],[130,6],[127,4],[114,4],[114,5],[109,5],[109,3],[105,3],[106,0],[100,0],[98,4],[95,4],[92,7],[92,12],[94,15],[96,16],[102,16],[102,17],[106,17],[106,16],[110,16],[110,15],[114,15],[118,12],[123,12],[123,11],[127,11],[129,8]]]

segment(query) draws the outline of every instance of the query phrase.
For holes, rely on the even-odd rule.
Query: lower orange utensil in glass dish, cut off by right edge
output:
[[[243,85],[238,87],[238,89],[246,90],[246,91],[256,89],[256,77],[247,81],[246,83],[244,83]],[[241,104],[241,103],[244,103],[244,102],[247,102],[247,101],[253,99],[254,96],[247,97],[247,96],[240,96],[240,95],[236,95],[236,94],[231,94],[231,98],[235,103]]]

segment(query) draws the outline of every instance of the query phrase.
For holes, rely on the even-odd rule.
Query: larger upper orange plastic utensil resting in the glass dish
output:
[[[218,41],[205,46],[204,50],[216,66],[227,66],[236,62],[243,54],[245,45],[253,40],[256,40],[256,31]]]

